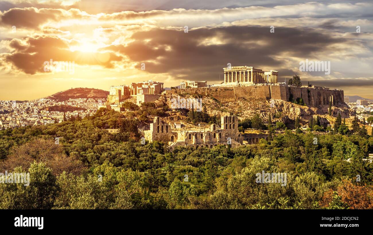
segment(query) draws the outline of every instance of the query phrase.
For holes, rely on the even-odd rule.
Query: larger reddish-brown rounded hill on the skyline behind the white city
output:
[[[107,95],[109,94],[109,91],[104,91],[100,89],[95,88],[72,88],[66,91],[60,91],[56,94],[53,94],[51,96],[48,96],[47,98],[59,100],[59,101],[65,101],[69,99],[79,99],[79,98],[91,98],[91,99],[97,99],[97,98],[107,98]]]

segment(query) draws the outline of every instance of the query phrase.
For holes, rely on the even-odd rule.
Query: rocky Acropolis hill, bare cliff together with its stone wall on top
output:
[[[343,97],[343,95],[339,95],[340,91],[314,90],[308,93],[307,90],[305,90],[306,93],[303,95],[305,101],[311,104],[317,104],[309,105],[289,102],[283,100],[284,98],[279,99],[281,98],[279,96],[269,97],[269,93],[263,93],[260,90],[266,89],[264,86],[251,87],[247,88],[247,90],[242,89],[241,91],[239,87],[214,88],[213,90],[202,88],[186,90],[174,89],[172,91],[166,91],[155,103],[158,107],[163,105],[171,107],[172,100],[178,99],[178,96],[186,99],[201,98],[202,110],[210,116],[233,114],[242,120],[259,114],[263,120],[267,120],[268,115],[271,114],[274,122],[281,121],[289,127],[294,126],[297,117],[300,118],[302,124],[305,124],[317,115],[320,117],[321,124],[327,125],[334,122],[339,112],[341,113],[341,117],[346,119],[349,119],[353,113],[344,102],[341,102],[341,97]],[[249,93],[248,91],[250,91],[250,89],[254,90],[255,93]],[[212,92],[210,92],[211,90]],[[296,94],[295,90],[293,93]],[[281,94],[284,93],[282,92]],[[329,108],[327,98],[329,98],[329,94],[335,96],[335,104],[332,106],[332,116],[327,115]],[[300,93],[300,95],[302,94]],[[298,96],[294,95],[294,97]],[[349,122],[349,120],[347,120],[347,122]]]

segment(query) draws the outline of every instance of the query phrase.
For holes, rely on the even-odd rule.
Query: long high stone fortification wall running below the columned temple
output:
[[[343,105],[344,93],[342,90],[327,90],[322,88],[293,87],[293,86],[232,86],[232,87],[201,87],[188,89],[166,90],[166,94],[177,93],[182,95],[197,94],[199,96],[213,97],[222,102],[234,101],[239,98],[269,100],[278,99],[289,101],[292,96],[294,99],[302,98],[307,105],[317,107],[329,104],[329,97],[333,96],[335,106]]]

